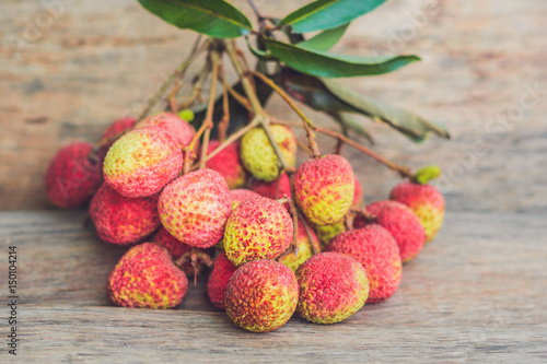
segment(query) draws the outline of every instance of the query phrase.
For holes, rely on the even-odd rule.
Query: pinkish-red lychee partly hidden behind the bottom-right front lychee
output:
[[[370,284],[366,303],[382,302],[397,291],[403,271],[399,248],[382,226],[373,224],[342,233],[325,250],[344,253],[363,266]]]

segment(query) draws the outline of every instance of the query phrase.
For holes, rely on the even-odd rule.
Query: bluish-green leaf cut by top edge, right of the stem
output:
[[[279,25],[292,25],[295,33],[331,30],[351,22],[386,0],[317,0],[287,15]]]

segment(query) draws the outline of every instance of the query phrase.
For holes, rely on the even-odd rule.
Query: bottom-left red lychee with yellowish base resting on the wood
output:
[[[183,302],[188,279],[165,248],[144,243],[121,257],[108,278],[107,291],[116,306],[173,308]]]

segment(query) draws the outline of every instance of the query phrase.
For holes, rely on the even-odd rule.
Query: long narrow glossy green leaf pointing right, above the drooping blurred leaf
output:
[[[348,78],[383,74],[419,61],[417,56],[353,57],[303,49],[287,43],[265,39],[272,56],[290,68],[321,78]]]

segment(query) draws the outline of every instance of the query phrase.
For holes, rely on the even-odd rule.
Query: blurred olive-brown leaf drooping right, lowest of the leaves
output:
[[[286,68],[281,85],[290,95],[316,110],[330,115],[361,114],[375,121],[387,124],[415,142],[424,141],[430,133],[450,139],[449,132],[443,127],[410,111],[357,93],[331,80],[318,79]],[[346,121],[346,127],[358,131],[356,122],[359,120]]]

